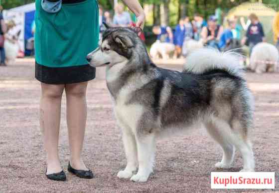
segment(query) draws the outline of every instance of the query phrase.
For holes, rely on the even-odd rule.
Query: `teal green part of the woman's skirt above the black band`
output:
[[[96,0],[62,4],[47,13],[36,0],[35,59],[48,67],[86,65],[86,56],[98,46],[99,8]]]

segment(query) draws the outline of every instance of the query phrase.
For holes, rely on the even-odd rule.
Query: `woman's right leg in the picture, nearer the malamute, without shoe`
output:
[[[88,170],[81,159],[87,118],[86,88],[87,82],[65,86],[70,164],[77,170]]]

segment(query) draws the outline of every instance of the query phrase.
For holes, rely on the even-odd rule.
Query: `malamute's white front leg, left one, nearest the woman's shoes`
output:
[[[118,178],[131,178],[138,166],[138,151],[135,135],[127,127],[122,127],[123,143],[127,158],[127,166],[124,171],[119,171]]]

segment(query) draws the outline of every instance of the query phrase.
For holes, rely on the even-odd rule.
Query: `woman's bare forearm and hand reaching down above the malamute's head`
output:
[[[145,13],[138,0],[123,0],[123,2],[134,12],[137,16],[136,27],[143,29],[145,21]]]

